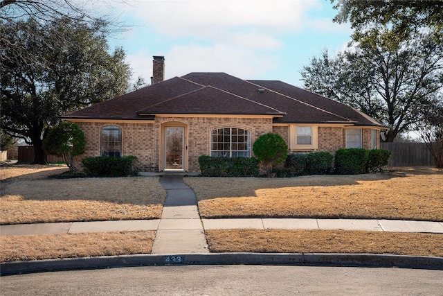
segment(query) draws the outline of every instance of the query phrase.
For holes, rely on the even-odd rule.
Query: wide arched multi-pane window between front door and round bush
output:
[[[251,157],[251,132],[242,128],[213,130],[210,156]]]

